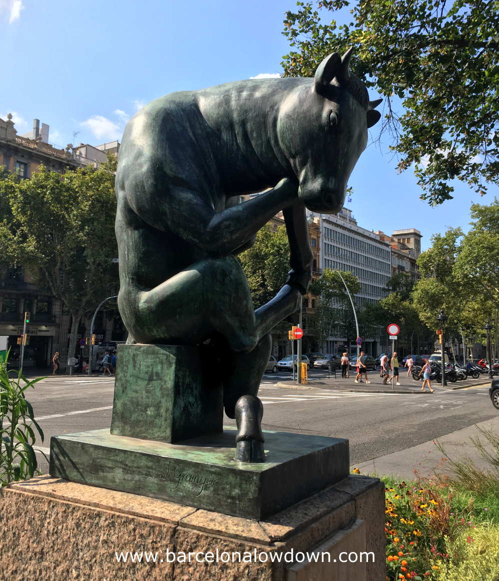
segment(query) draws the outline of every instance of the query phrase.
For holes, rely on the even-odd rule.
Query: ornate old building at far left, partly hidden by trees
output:
[[[41,164],[60,173],[68,168],[98,167],[100,161],[107,159],[106,145],[112,145],[94,148],[104,158],[98,159],[97,155],[86,157],[84,150],[73,149],[71,145],[58,149],[48,140],[49,125],[40,125],[38,119],[33,121],[33,130],[24,135],[17,135],[12,115],[9,114],[6,120],[0,119],[0,167],[17,173],[21,179],[30,178]],[[119,144],[113,146],[117,148]],[[30,312],[27,327],[30,345],[25,349],[24,367],[49,365],[56,350],[60,351],[64,360],[71,323],[60,299],[40,288],[37,280],[38,272],[19,265],[0,264],[0,335],[8,336],[11,363],[19,358],[17,338],[23,332],[24,312]],[[101,340],[113,340],[113,333],[114,336],[119,335],[119,340],[122,339],[123,329],[114,319],[105,315],[102,321],[98,318],[96,331]],[[84,332],[82,328],[81,338],[84,338]]]

